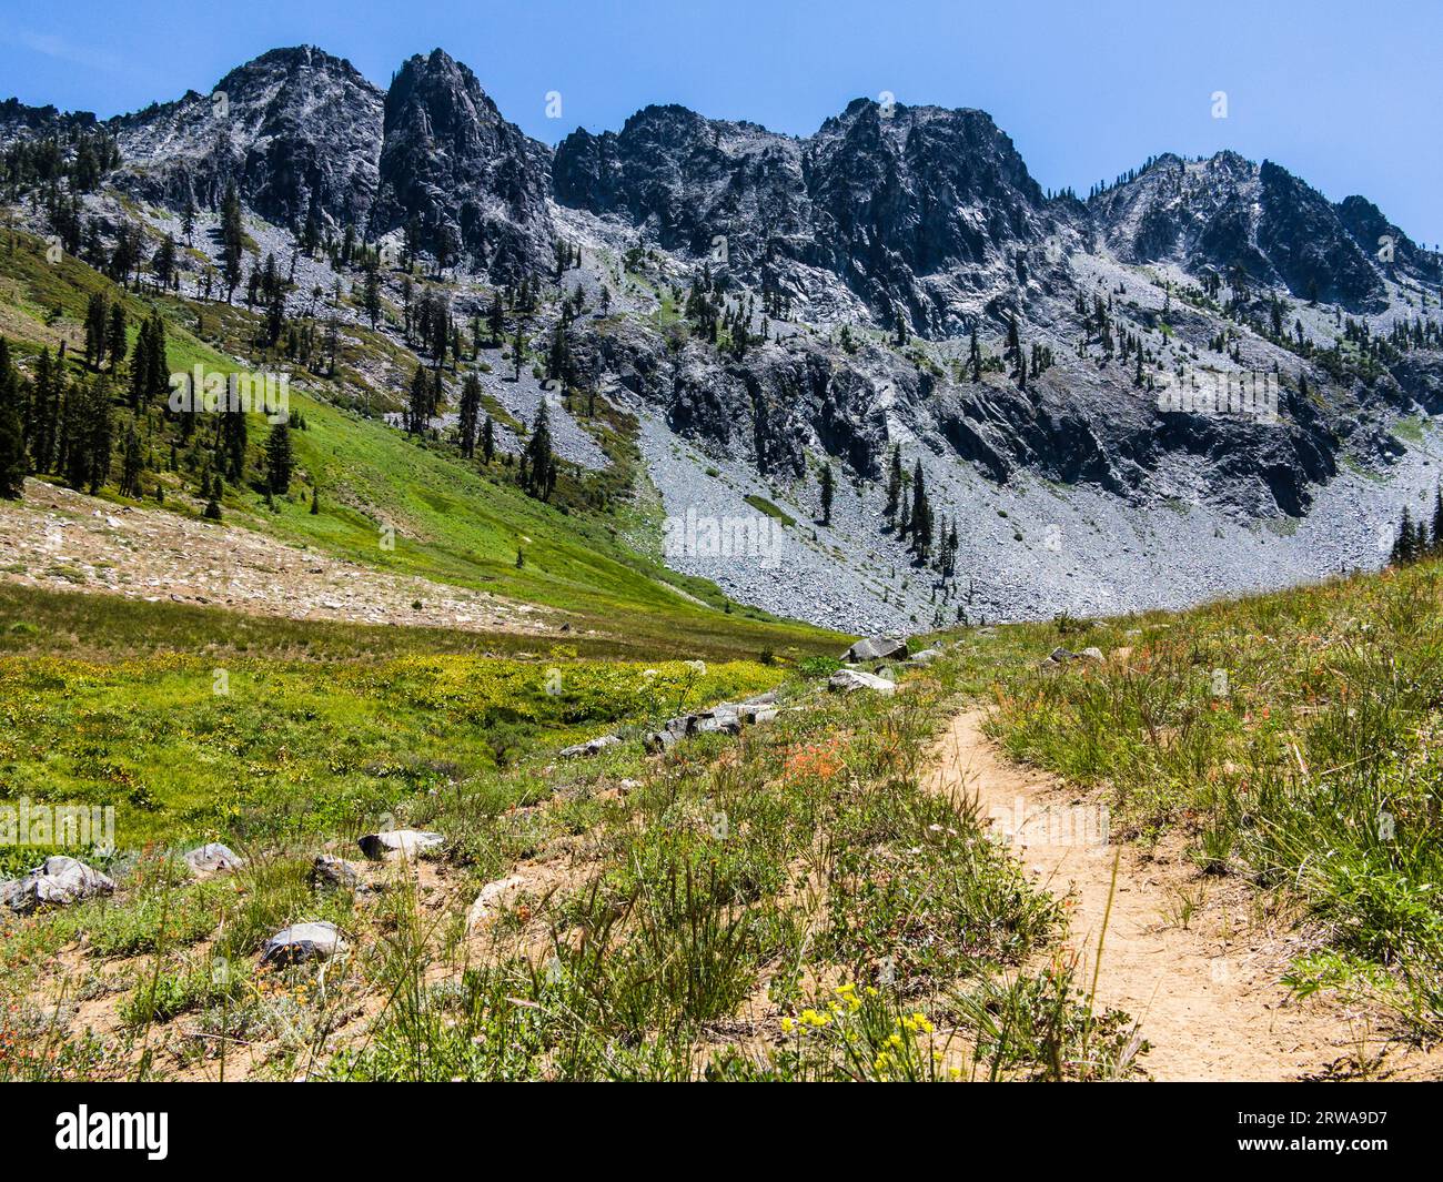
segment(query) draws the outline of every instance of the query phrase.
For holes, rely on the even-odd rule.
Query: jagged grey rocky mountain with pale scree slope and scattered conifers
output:
[[[214,303],[235,180],[242,270],[287,281],[260,348],[215,307],[232,352],[304,352],[322,400],[397,424],[424,362],[443,446],[470,375],[512,458],[545,403],[566,478],[645,499],[645,469],[636,544],[739,600],[851,629],[1182,605],[1375,564],[1426,509],[1439,258],[1280,165],[1165,154],[1084,202],[975,110],[857,100],[798,139],[658,105],[553,152],[439,49],[384,95],[315,49],[227,84],[225,152],[196,95],[98,124],[118,170],[25,225],[111,271],[139,232],[144,286],[195,173],[179,292]],[[6,110],[79,150],[82,123]],[[786,559],[661,553],[661,514],[781,522]]]

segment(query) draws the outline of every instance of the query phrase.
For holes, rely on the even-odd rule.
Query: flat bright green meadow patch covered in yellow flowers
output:
[[[398,800],[515,762],[571,729],[657,726],[756,693],[747,662],[166,655],[0,662],[4,798],[115,807],[117,844],[349,833]],[[576,737],[589,737],[577,730]],[[33,864],[33,849],[6,850]]]

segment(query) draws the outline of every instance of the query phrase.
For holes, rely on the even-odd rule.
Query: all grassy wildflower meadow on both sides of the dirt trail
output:
[[[827,694],[825,658],[703,674],[554,657],[557,694],[535,661],[253,655],[216,710],[193,657],[10,658],[4,762],[25,791],[146,785],[159,807],[133,801],[127,824],[214,833],[250,862],[196,882],[123,854],[113,899],[13,924],[0,1077],[1127,1077],[1146,1030],[1075,980],[1065,908],[928,789],[935,735],[980,697],[1014,758],[1101,794],[1114,836],[1180,837],[1199,880],[1291,916],[1299,994],[1385,1006],[1429,1041],[1440,597],[1424,559],[1180,615],[975,629],[890,699]],[[1107,660],[1039,665],[1056,645]],[[773,722],[642,752],[641,726],[771,684]],[[622,743],[556,759],[603,720]],[[316,888],[315,853],[354,850],[382,811],[444,847],[364,870],[361,893]],[[302,919],[349,951],[260,967]],[[82,967],[46,971],[81,934]],[[79,999],[108,1038],[65,1020]]]

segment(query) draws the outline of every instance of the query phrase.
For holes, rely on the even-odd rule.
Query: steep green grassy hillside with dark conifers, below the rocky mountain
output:
[[[260,319],[227,305],[141,299],[68,255],[48,263],[43,250],[43,242],[26,234],[0,244],[0,332],[22,359],[65,341],[72,369],[81,372],[76,355],[85,306],[97,292],[126,309],[131,341],[140,320],[160,309],[172,371],[196,364],[234,369],[227,351],[241,351]],[[407,361],[411,368],[417,364],[414,355],[378,333],[356,329],[346,339],[352,362],[384,359],[388,372],[404,371]],[[254,362],[268,359],[260,355]],[[354,368],[342,372],[345,381],[304,375],[294,381],[291,411],[303,429],[291,433],[299,469],[291,495],[271,507],[255,482],[228,483],[222,499],[228,521],[377,569],[553,606],[574,613],[577,623],[619,639],[651,642],[661,651],[670,651],[678,635],[691,638],[698,654],[729,647],[737,654],[769,649],[799,657],[833,649],[841,641],[837,634],[732,605],[714,585],[636,554],[619,541],[620,530],[659,530],[659,522],[638,520],[625,502],[606,498],[613,508],[593,511],[586,508],[586,489],[577,488],[573,504],[543,504],[518,489],[499,463],[483,469],[450,445],[407,437],[296,388],[310,382],[320,394],[336,395],[355,381]],[[398,391],[378,395],[391,404]],[[641,479],[625,462],[618,423],[610,416],[597,427],[613,436],[609,443],[618,463],[609,473],[589,478],[613,494],[618,482]],[[258,465],[268,426],[253,414],[248,427],[251,462]],[[163,452],[163,446],[154,450]],[[202,499],[190,488],[190,476],[183,466],[156,473],[172,511],[199,512]],[[317,514],[310,512],[312,492],[319,492]],[[107,495],[120,499],[113,489]],[[524,556],[521,566],[518,553]]]

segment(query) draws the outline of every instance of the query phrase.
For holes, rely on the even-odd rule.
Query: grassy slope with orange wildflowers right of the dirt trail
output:
[[[968,639],[993,733],[1095,785],[1126,836],[1182,831],[1205,875],[1302,905],[1299,991],[1336,987],[1443,1033],[1443,566],[1176,616],[1100,622],[1105,665],[1039,670],[1079,625]],[[1068,631],[1063,631],[1068,629]]]

